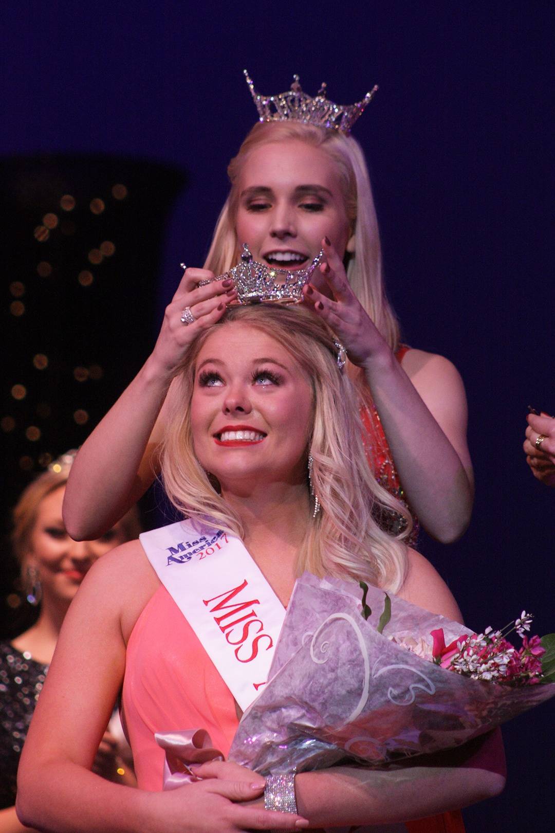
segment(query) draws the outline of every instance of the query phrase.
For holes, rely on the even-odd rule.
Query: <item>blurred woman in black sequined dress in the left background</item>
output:
[[[141,531],[133,508],[97,541],[72,541],[63,525],[62,501],[74,456],[75,451],[68,452],[52,463],[13,510],[13,551],[27,601],[39,613],[31,627],[0,641],[0,833],[24,830],[14,807],[17,764],[67,608],[93,562]],[[129,753],[115,717],[102,737],[94,771],[134,786]]]

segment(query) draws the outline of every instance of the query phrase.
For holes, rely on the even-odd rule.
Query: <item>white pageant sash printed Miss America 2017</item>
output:
[[[235,536],[179,521],[143,532],[139,539],[245,711],[268,679],[285,607]]]

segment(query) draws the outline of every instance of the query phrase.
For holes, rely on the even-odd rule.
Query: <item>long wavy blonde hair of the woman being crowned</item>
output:
[[[364,456],[359,399],[349,377],[339,372],[334,334],[305,307],[229,307],[221,321],[191,346],[168,393],[161,450],[162,476],[172,503],[185,516],[244,536],[240,518],[221,496],[216,479],[196,459],[190,417],[201,347],[217,327],[232,327],[235,322],[255,327],[285,347],[312,388],[314,422],[306,456],[313,458],[312,485],[322,509],[309,522],[297,560],[298,574],[308,570],[316,576],[351,576],[399,590],[406,569],[404,541],[412,519],[372,476]],[[374,520],[384,510],[405,518],[406,526],[398,535],[390,535]]]

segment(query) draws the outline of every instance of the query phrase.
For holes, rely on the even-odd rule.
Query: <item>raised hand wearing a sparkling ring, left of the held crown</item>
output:
[[[186,268],[176,294],[166,307],[164,321],[152,359],[162,374],[170,377],[179,366],[187,347],[199,332],[211,327],[236,297],[233,281],[226,279],[199,287],[199,281],[210,281],[214,273],[208,269]]]

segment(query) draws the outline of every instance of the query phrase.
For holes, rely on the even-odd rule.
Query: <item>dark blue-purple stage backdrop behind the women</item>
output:
[[[524,607],[539,632],[555,630],[555,490],[522,451],[528,404],[555,412],[553,4],[5,0],[1,16],[0,155],[100,154],[186,174],[136,362],[179,262],[202,265],[226,164],[255,121],[243,68],[260,92],[283,91],[298,72],[308,92],[325,81],[342,103],[379,84],[354,135],[369,157],[389,292],[405,341],[463,375],[476,469],[467,534],[421,548],[468,626],[503,626]],[[141,291],[132,270],[124,277]],[[116,363],[118,333],[102,339]],[[505,729],[507,790],[465,811],[468,833],[548,829],[552,724],[548,704]]]

